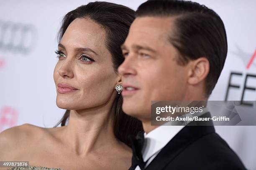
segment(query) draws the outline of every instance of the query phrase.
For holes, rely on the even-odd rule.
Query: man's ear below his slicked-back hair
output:
[[[188,83],[191,85],[195,85],[200,83],[207,77],[210,71],[210,63],[205,57],[200,57],[190,62],[191,63],[188,72]]]

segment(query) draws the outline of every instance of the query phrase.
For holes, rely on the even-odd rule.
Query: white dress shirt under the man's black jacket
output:
[[[204,108],[201,113],[191,114],[187,113],[180,117],[200,117],[202,114],[208,112],[207,108]],[[157,127],[148,134],[144,133],[144,144],[142,148],[143,161],[146,162],[145,168],[150,164],[156,155],[162,150],[162,148],[167,145],[167,143],[172,140],[172,138],[189,122],[184,122],[181,126],[172,126],[172,122],[166,122],[165,124]],[[135,170],[141,170],[139,166]]]

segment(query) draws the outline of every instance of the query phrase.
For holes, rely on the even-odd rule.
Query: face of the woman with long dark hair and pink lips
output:
[[[54,69],[59,108],[77,110],[106,104],[120,76],[105,46],[106,33],[90,19],[77,18],[67,28]],[[68,87],[68,86],[72,87]]]

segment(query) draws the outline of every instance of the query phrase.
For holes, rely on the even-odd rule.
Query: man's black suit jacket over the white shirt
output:
[[[145,170],[245,169],[239,157],[215,132],[213,126],[185,126]]]

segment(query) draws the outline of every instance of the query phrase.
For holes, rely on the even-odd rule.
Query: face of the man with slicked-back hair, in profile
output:
[[[169,41],[173,31],[169,17],[138,17],[131,25],[118,68],[125,113],[149,120],[151,101],[184,99],[188,69],[177,64],[178,51]]]

